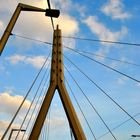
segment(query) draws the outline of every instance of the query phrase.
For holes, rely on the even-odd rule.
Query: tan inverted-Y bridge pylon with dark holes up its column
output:
[[[32,132],[30,134],[29,140],[38,140],[42,126],[46,119],[48,109],[50,107],[52,98],[54,96],[55,90],[58,90],[66,116],[68,118],[70,127],[73,131],[76,140],[86,140],[68,92],[64,84],[64,68],[63,68],[63,56],[62,56],[62,38],[61,30],[57,29],[54,31],[53,36],[53,52],[51,60],[51,77],[50,86],[44,98],[43,104],[33,126]]]

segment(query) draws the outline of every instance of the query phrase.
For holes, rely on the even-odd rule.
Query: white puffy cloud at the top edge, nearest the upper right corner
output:
[[[122,0],[109,0],[102,8],[101,11],[110,16],[112,19],[127,19],[131,14],[124,11]]]

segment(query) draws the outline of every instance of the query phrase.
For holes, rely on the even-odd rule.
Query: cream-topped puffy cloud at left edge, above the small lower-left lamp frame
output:
[[[15,95],[12,96],[7,92],[0,93],[0,114],[8,114],[13,116],[13,114],[18,109],[19,105],[23,101],[23,96]],[[25,111],[29,108],[30,101],[26,100],[22,111]]]

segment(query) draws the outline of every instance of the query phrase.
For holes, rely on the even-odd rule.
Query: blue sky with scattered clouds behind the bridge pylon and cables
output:
[[[95,55],[91,58],[117,69],[137,80],[140,80],[140,46],[122,44],[109,44],[75,40],[65,37],[80,37],[96,40],[108,40],[114,42],[140,43],[140,1],[138,0],[50,0],[51,7],[60,10],[60,17],[53,19],[54,25],[59,25],[62,30],[64,46],[81,51],[88,51]],[[47,8],[47,0],[1,0],[0,2],[0,37],[12,17],[18,3],[30,4],[43,9]],[[41,42],[32,41],[19,36],[52,43],[53,30],[51,20],[44,13],[21,12],[12,31],[6,47],[0,56],[0,137],[22,102],[25,94],[31,86],[35,76],[51,52],[51,47]],[[94,82],[96,82],[108,95],[121,105],[131,116],[139,113],[140,108],[140,83],[133,81],[121,74],[113,72],[79,54],[64,48],[64,54]],[[97,55],[104,56],[98,57]],[[110,57],[136,65],[125,64],[106,59]],[[50,71],[51,57],[49,56],[46,68]],[[89,97],[94,107],[98,110],[110,129],[118,126],[130,117],[120,110],[108,97],[96,88],[74,65],[64,58],[64,65],[76,79],[84,93]],[[46,70],[44,69],[43,72]],[[43,76],[43,72],[41,76]],[[26,110],[29,108],[35,95],[38,82],[26,99],[18,118],[12,128],[19,128]],[[91,108],[81,91],[78,89],[68,72],[65,77],[71,85],[73,93],[77,97],[83,112],[96,138],[100,138],[108,130],[101,122],[97,114]],[[45,93],[49,84],[43,88]],[[83,116],[80,112],[68,85],[66,84],[72,103],[88,140],[94,139]],[[39,108],[44,95],[39,96]],[[35,105],[34,105],[35,106]],[[31,108],[33,110],[33,107]],[[30,116],[30,115],[29,115]],[[50,116],[50,118],[49,118]],[[35,116],[33,117],[35,118]],[[48,119],[49,118],[49,119]],[[27,118],[29,120],[29,118]],[[140,115],[135,116],[140,122]],[[33,120],[32,120],[33,121]],[[70,139],[68,121],[62,107],[58,93],[55,93],[51,104],[50,115],[47,115],[43,131],[50,122],[49,139]],[[119,140],[132,139],[132,134],[140,134],[140,127],[130,120],[124,125],[112,131]],[[13,134],[14,137],[15,134]],[[107,134],[101,140],[112,140]],[[137,138],[134,138],[137,139]]]

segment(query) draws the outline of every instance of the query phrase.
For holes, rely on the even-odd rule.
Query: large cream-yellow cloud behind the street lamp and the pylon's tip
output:
[[[13,14],[13,9],[16,8],[17,6],[17,2],[16,0],[13,0],[14,4],[12,2],[11,5],[11,1],[6,1],[2,0],[2,5],[11,5],[12,8],[10,8],[10,12],[8,14],[9,18],[11,17],[11,15]],[[46,0],[41,0],[41,1],[28,1],[28,0],[20,0],[19,2],[23,2],[25,4],[30,4],[30,5],[34,5],[34,6],[39,6],[42,8],[46,8],[47,6],[47,2]],[[59,4],[62,4],[58,1]],[[65,4],[63,5],[69,5],[68,1],[65,1]],[[7,13],[7,11],[9,11],[8,8],[4,9],[2,7],[2,5],[0,5],[0,11],[3,11],[4,13]],[[52,5],[54,5],[52,3]],[[56,6],[57,8],[57,6]],[[65,7],[66,8],[66,7]],[[1,15],[1,14],[0,14]],[[7,15],[6,15],[7,16]],[[6,17],[3,17],[3,20],[6,19]],[[62,32],[63,34],[66,35],[74,35],[75,33],[77,33],[79,31],[79,27],[78,27],[78,21],[76,19],[74,19],[72,16],[69,15],[69,13],[65,13],[62,14],[60,16],[60,19],[56,20],[54,18],[55,21],[57,21],[57,23],[60,24],[60,27],[62,28]],[[4,22],[4,24],[7,24]],[[62,26],[63,24],[63,26]],[[71,25],[71,26],[69,26]],[[14,31],[18,34],[21,35],[27,35],[27,36],[31,36],[37,39],[44,39],[47,41],[52,41],[52,27],[51,27],[51,23],[50,23],[50,18],[45,16],[45,13],[33,13],[33,12],[21,12],[20,17],[16,23],[16,26],[14,28]]]

